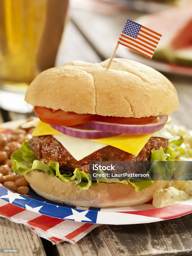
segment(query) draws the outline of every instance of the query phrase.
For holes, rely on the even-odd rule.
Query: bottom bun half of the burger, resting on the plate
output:
[[[131,185],[122,183],[99,183],[97,187],[81,190],[75,181],[64,182],[57,177],[33,170],[25,175],[31,188],[48,200],[74,206],[117,207],[143,204],[153,198],[153,192],[162,189],[167,181],[154,181],[153,186],[143,191],[135,191]]]

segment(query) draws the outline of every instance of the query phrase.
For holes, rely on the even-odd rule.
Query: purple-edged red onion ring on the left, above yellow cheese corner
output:
[[[55,124],[50,124],[50,126],[53,129],[65,135],[69,135],[69,136],[81,138],[81,139],[100,139],[100,138],[108,138],[108,137],[120,135],[119,133],[114,133],[114,132],[84,130],[84,129],[73,128],[70,126],[61,126],[61,125],[55,125]]]

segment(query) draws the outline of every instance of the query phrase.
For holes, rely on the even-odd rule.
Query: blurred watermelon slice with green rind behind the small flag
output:
[[[175,56],[177,50],[192,46],[191,3],[142,16],[137,22],[162,34],[153,56],[155,59],[176,63],[178,61],[178,57]],[[189,47],[188,50],[190,51],[191,48]],[[186,58],[181,60],[181,55],[179,56],[179,62],[189,65],[190,61],[188,62]]]

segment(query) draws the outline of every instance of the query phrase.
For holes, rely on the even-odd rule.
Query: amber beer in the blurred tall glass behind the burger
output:
[[[69,0],[0,0],[0,85],[26,86],[54,67]]]

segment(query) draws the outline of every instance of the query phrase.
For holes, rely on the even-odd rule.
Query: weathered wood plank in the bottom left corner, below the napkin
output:
[[[22,224],[0,218],[0,248],[20,249],[20,253],[3,253],[9,256],[46,256],[40,237]]]

